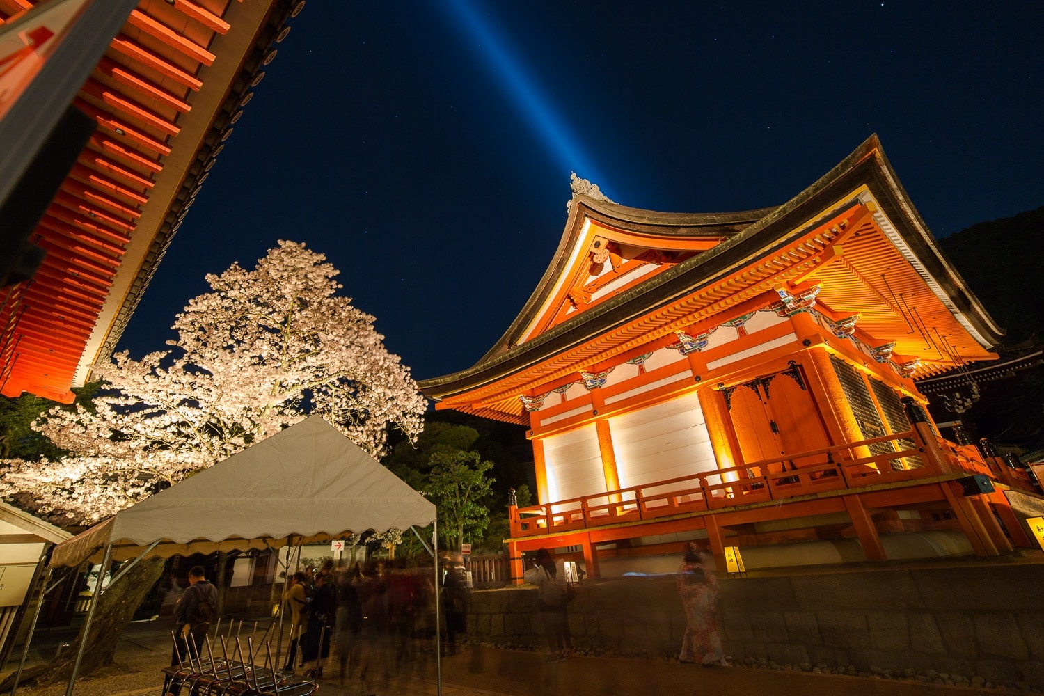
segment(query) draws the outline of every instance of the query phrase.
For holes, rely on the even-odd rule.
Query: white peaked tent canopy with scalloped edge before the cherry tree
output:
[[[435,506],[311,416],[64,542],[51,568],[280,547],[426,527]]]

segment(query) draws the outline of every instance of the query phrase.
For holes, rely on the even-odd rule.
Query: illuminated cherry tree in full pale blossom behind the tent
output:
[[[171,350],[94,365],[94,409],[33,428],[71,454],[0,462],[0,496],[56,524],[93,524],[308,414],[374,457],[389,427],[416,439],[424,398],[374,317],[337,296],[337,271],[280,241],[253,270],[208,275],[174,320]]]

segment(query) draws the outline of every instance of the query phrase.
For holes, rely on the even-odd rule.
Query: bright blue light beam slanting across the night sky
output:
[[[551,157],[567,171],[575,171],[578,176],[598,184],[604,190],[594,162],[570,131],[565,119],[555,113],[551,100],[541,93],[537,80],[526,73],[522,62],[512,55],[494,27],[468,0],[438,1],[437,4],[451,7],[456,13],[468,35],[477,42],[475,50],[487,58],[482,64],[488,67],[494,81],[525,116],[533,135]]]

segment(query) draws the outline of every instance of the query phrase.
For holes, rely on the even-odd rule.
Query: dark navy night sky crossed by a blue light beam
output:
[[[417,379],[474,364],[550,262],[570,171],[669,212],[783,203],[877,133],[936,237],[1044,205],[1044,3],[311,0],[118,350],[279,239]]]

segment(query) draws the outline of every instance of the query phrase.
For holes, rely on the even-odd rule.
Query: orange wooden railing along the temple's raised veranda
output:
[[[854,456],[855,452],[865,452],[879,442],[893,443],[895,451]],[[910,442],[914,442],[912,448]],[[948,473],[984,474],[1007,483],[1002,474],[995,471],[996,465],[983,459],[975,447],[955,446],[946,440],[925,446],[920,446],[921,442],[920,433],[911,430],[786,458],[763,459],[603,494],[520,507],[515,509],[511,521],[512,536],[550,534],[763,501],[784,501],[825,490],[863,488]],[[934,460],[942,464],[932,463],[933,457],[926,456],[927,448],[933,448],[931,454],[936,455]],[[820,459],[823,463],[801,466],[792,463]]]

